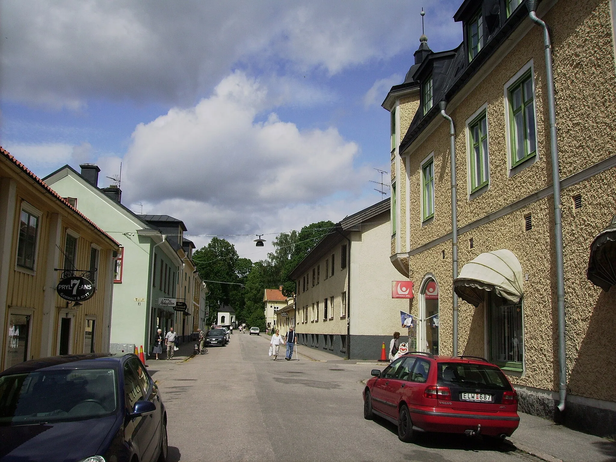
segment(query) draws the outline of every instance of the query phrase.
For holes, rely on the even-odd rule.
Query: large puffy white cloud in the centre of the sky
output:
[[[267,93],[235,72],[195,107],[137,126],[123,160],[124,204],[182,219],[191,234],[232,235],[339,221],[379,200],[362,195],[371,171],[354,166],[358,147],[336,129],[300,131],[275,113],[257,121]],[[264,257],[254,237],[228,239]]]

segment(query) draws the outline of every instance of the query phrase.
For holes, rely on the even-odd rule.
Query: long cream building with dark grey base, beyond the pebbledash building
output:
[[[335,225],[291,272],[298,342],[349,359],[379,359],[400,331],[408,300],[392,299],[400,279],[387,259],[389,199]]]

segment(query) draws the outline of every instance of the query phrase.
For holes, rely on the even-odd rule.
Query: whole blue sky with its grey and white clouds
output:
[[[421,7],[434,51],[461,41],[450,1],[1,5],[2,146],[41,177],[97,163],[101,187],[122,162],[124,205],[184,220],[198,246],[379,201],[380,104],[413,62]]]

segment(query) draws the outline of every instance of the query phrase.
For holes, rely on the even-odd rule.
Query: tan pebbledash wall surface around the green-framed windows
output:
[[[480,2],[477,2],[479,8]],[[521,6],[524,8],[524,5]],[[567,407],[558,401],[554,213],[542,31],[522,20],[509,40],[458,89],[448,104],[456,128],[459,270],[480,253],[509,249],[522,266],[523,369],[506,371],[519,392],[521,410],[564,418],[573,428],[616,434],[616,287],[608,292],[586,278],[590,245],[616,214],[616,74],[614,17],[609,0],[544,1],[538,16],[553,38],[558,148],[562,186]],[[505,94],[508,82],[530,70],[535,91],[537,155],[508,168]],[[452,242],[449,124],[436,116],[400,149],[419,106],[419,82],[384,103],[395,111],[392,182],[402,183],[398,235],[392,262],[408,271],[416,294],[426,275],[439,285],[440,352],[452,352]],[[387,103],[387,104],[386,104]],[[470,193],[467,127],[487,114],[490,180]],[[411,127],[412,129],[413,127]],[[421,163],[434,156],[434,218],[421,220]],[[407,189],[408,188],[408,189]],[[574,198],[581,197],[581,208]],[[578,203],[579,205],[579,203]],[[532,229],[525,217],[532,216]],[[471,244],[472,241],[472,244]],[[407,266],[408,262],[408,266]],[[417,297],[416,297],[417,298]],[[460,299],[459,352],[489,356],[487,302],[475,308]],[[418,303],[411,304],[418,315]]]

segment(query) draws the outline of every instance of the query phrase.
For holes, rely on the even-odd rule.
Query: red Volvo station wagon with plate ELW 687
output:
[[[483,358],[411,352],[371,375],[363,391],[363,416],[397,424],[405,442],[418,432],[504,438],[520,421],[515,389]]]

